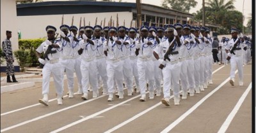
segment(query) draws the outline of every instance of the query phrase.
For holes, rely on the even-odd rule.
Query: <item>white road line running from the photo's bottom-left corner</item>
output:
[[[16,124],[16,125],[12,125],[11,127],[7,127],[7,128],[5,128],[5,129],[2,129],[1,132],[4,132],[4,131],[6,131],[6,130],[10,130],[10,129],[14,129],[14,128],[16,128],[16,127],[19,127],[19,126],[21,126],[21,125],[25,125],[25,124],[30,123],[30,122],[34,122],[34,121],[36,121],[36,120],[40,120],[40,119],[45,118],[45,117],[47,117],[47,116],[51,116],[51,115],[54,115],[54,114],[56,114],[56,113],[60,113],[61,111],[65,111],[65,110],[67,110],[67,109],[74,108],[74,107],[76,107],[76,106],[80,106],[80,105],[85,104],[85,103],[87,103],[87,102],[95,101],[96,99],[100,99],[101,97],[104,97],[104,96],[106,96],[106,95],[100,95],[100,96],[97,97],[97,98],[90,99],[90,100],[84,101],[84,102],[80,102],[80,103],[78,103],[78,104],[74,104],[74,105],[72,105],[72,106],[68,106],[67,108],[63,108],[63,109],[54,111],[54,112],[52,112],[52,113],[47,113],[47,114],[45,114],[45,115],[38,116],[38,117],[33,118],[33,119],[31,119],[31,120],[27,120],[27,121],[25,121],[25,122],[18,123],[18,124]]]

